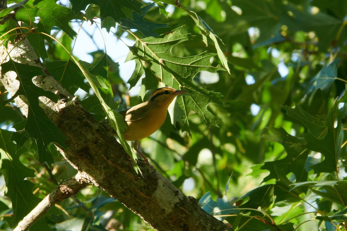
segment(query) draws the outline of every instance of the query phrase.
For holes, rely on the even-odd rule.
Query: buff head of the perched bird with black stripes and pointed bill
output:
[[[180,91],[171,87],[162,87],[153,91],[148,101],[149,103],[169,105],[177,95],[186,92],[187,91]]]

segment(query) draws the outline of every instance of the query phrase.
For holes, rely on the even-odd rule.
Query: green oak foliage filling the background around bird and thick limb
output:
[[[46,69],[71,94],[84,90],[82,105],[99,121],[104,111],[136,105],[160,86],[187,90],[142,148],[158,171],[235,230],[346,230],[347,2],[180,5],[29,0],[16,19]],[[90,64],[70,55],[78,32],[71,20],[82,24],[94,17],[100,23],[91,26],[134,41],[128,46],[127,61],[136,63],[129,80],[107,54],[117,51],[97,50]],[[18,26],[12,19],[1,25],[1,44],[18,38],[11,30]],[[17,95],[30,105],[25,119],[0,86],[0,229],[11,230],[76,171],[55,151],[51,142],[64,144],[65,137],[37,104],[42,95],[56,100],[29,81],[42,74],[40,68],[13,61],[1,68],[17,72]],[[128,87],[139,81],[141,97],[129,97]],[[117,120],[117,113],[108,116]],[[90,186],[31,230],[105,230],[107,223],[119,230],[150,229]]]

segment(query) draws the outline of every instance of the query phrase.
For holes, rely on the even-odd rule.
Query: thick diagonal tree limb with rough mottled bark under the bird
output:
[[[35,62],[38,58],[33,55],[33,49],[26,40],[15,47],[8,44],[8,50],[12,50],[10,56],[16,62],[37,65]],[[1,61],[6,59],[5,47],[1,47],[0,55]],[[12,84],[16,82],[13,76],[1,73],[0,81],[9,92],[16,91],[16,84]],[[96,122],[54,78],[49,75],[36,77],[33,82],[61,97],[57,104],[40,97],[40,106],[68,137],[68,151],[61,150],[61,153],[85,180],[117,198],[155,230],[232,230],[203,211],[195,198],[183,195],[168,179],[144,162],[138,162],[142,175],[137,174],[130,157],[115,137]],[[25,104],[25,99],[23,102]],[[24,105],[22,111],[25,111]]]

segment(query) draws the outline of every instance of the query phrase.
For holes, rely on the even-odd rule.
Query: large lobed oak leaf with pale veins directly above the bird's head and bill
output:
[[[189,95],[177,100],[185,113],[185,125],[188,124],[187,116],[191,111],[196,112],[206,126],[217,125],[217,118],[207,109],[207,105],[210,103],[223,105],[220,99],[222,95],[197,86],[192,82],[192,78],[200,71],[214,73],[225,69],[219,65],[211,66],[210,59],[215,56],[213,53],[204,52],[189,57],[178,57],[173,54],[172,47],[192,37],[189,34],[181,34],[180,29],[162,34],[158,38],[140,39],[130,47],[127,61],[136,60],[135,71],[129,80],[130,87],[135,86],[147,68],[147,71],[150,71],[150,78],[156,78],[169,87],[189,92]]]

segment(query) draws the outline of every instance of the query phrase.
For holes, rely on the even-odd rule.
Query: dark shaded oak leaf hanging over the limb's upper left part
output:
[[[28,117],[24,130],[14,133],[12,139],[17,142],[17,145],[22,146],[29,137],[33,137],[36,140],[39,152],[39,162],[53,163],[51,153],[47,152],[49,151],[49,144],[57,142],[65,146],[65,135],[50,121],[44,110],[39,106],[39,97],[46,96],[54,101],[58,99],[58,96],[37,87],[32,82],[34,76],[43,75],[42,68],[17,63],[12,60],[1,64],[1,68],[3,73],[8,71],[17,73],[20,86],[15,96],[24,95],[28,101]]]

